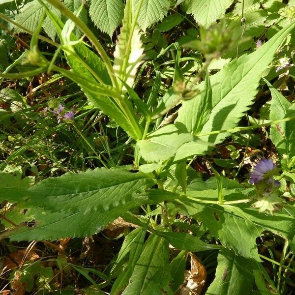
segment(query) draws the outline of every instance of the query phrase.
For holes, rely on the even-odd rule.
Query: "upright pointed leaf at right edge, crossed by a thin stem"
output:
[[[287,117],[287,114],[291,111],[292,103],[289,102],[277,89],[273,88],[271,84],[267,81],[266,83],[271,92],[270,121],[280,120]],[[290,159],[295,155],[294,122],[281,122],[272,125],[270,127],[270,139],[281,156],[287,155],[287,158]]]

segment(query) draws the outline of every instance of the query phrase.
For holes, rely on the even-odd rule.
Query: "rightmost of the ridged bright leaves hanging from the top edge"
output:
[[[186,13],[193,14],[195,21],[207,29],[225,15],[225,10],[232,2],[232,0],[191,0]]]

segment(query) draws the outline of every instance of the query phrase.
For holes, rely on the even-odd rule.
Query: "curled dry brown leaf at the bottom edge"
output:
[[[206,283],[207,271],[205,266],[195,254],[190,253],[190,257],[191,270],[186,270],[179,295],[199,295]]]

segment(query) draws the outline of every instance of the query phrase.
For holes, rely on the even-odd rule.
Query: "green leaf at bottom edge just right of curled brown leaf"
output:
[[[206,295],[250,294],[253,262],[224,249],[219,251],[215,279]]]

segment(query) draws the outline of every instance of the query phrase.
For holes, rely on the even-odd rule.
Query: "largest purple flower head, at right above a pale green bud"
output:
[[[256,164],[254,170],[250,172],[250,183],[256,184],[257,182],[269,177],[268,181],[272,182],[271,173],[275,173],[276,166],[271,159],[263,158],[260,162]],[[278,181],[279,182],[279,181]],[[275,183],[277,185],[277,183]]]

